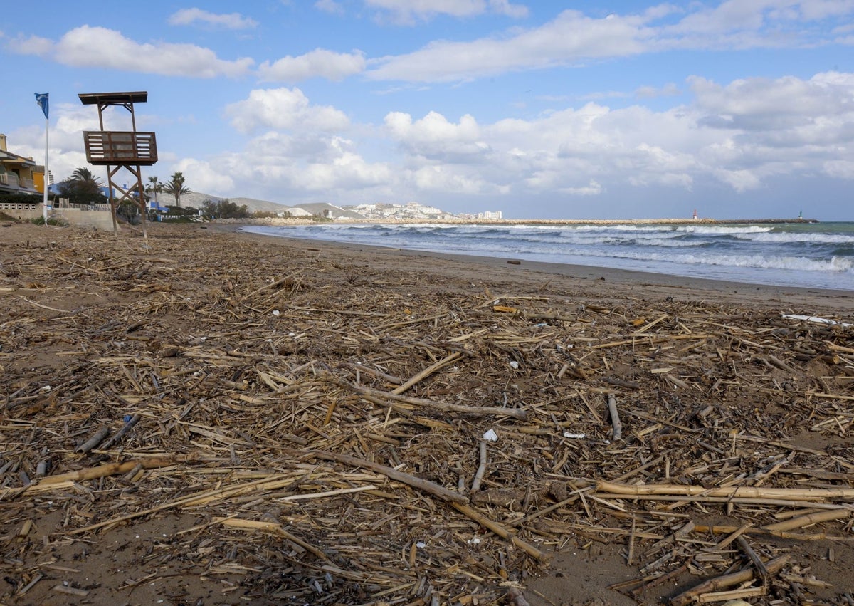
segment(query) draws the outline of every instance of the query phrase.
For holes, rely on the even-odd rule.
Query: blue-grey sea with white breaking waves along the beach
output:
[[[247,226],[286,238],[854,291],[854,222],[319,223]]]

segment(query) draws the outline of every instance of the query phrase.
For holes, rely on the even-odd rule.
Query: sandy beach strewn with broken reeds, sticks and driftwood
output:
[[[3,603],[854,601],[854,292],[148,235],[0,227]]]

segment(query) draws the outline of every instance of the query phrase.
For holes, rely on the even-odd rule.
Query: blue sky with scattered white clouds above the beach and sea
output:
[[[4,6],[0,61],[37,162],[50,93],[57,180],[97,130],[79,93],[148,91],[143,180],[215,196],[854,220],[854,0],[46,0]]]

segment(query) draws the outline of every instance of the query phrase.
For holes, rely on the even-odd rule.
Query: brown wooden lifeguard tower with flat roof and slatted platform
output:
[[[148,233],[145,230],[145,220],[148,209],[145,203],[145,191],[143,189],[143,166],[151,166],[157,162],[157,141],[154,132],[137,132],[137,118],[133,113],[134,103],[145,103],[149,100],[147,91],[137,92],[86,92],[78,95],[84,105],[98,106],[98,123],[100,131],[83,132],[83,140],[86,145],[86,160],[95,166],[107,167],[107,181],[109,188],[110,213],[113,215],[113,232],[119,231],[115,218],[115,211],[119,204],[125,200],[134,201],[133,191],[137,191],[139,197],[140,213],[143,215],[143,234],[148,242]],[[130,131],[105,131],[103,112],[108,107],[123,107],[131,113]],[[118,185],[115,175],[124,168],[136,178],[134,185]],[[116,200],[114,191],[120,191],[121,196]]]

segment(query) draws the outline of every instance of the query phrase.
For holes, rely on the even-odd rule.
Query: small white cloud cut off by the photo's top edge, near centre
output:
[[[493,12],[513,19],[528,15],[527,7],[512,4],[509,0],[365,0],[365,4],[400,24],[428,21],[436,15],[472,17]]]

